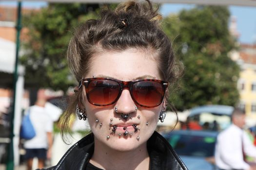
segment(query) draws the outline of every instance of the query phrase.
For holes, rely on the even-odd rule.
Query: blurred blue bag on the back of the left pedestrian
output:
[[[26,114],[21,122],[21,127],[20,127],[20,138],[22,139],[32,139],[33,137],[36,136],[35,129],[33,127],[33,124],[30,120],[30,109],[28,110],[28,114]]]

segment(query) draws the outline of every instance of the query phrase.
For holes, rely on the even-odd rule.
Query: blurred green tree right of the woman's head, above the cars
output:
[[[204,104],[234,106],[239,100],[239,67],[228,56],[236,48],[229,17],[226,7],[197,6],[164,18],[164,31],[185,67],[180,88],[169,98],[178,110]]]

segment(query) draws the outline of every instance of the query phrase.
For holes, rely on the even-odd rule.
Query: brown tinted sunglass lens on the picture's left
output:
[[[117,99],[119,89],[113,80],[93,80],[88,85],[88,100],[95,105],[111,104]]]

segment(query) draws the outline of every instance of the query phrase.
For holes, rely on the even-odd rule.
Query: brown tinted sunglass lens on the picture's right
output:
[[[162,102],[163,86],[153,81],[137,82],[132,87],[132,94],[139,104],[155,107]]]

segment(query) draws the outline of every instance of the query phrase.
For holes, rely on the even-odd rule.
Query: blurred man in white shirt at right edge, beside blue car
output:
[[[242,129],[245,114],[235,109],[232,124],[217,137],[215,161],[220,170],[256,170],[256,147]],[[255,162],[244,161],[244,154],[255,158]]]

